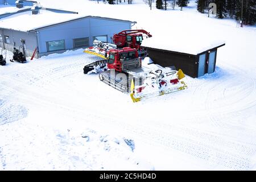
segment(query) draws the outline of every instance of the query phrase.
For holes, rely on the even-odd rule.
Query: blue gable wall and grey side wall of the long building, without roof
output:
[[[89,46],[92,46],[93,36],[107,35],[108,42],[111,43],[111,38],[115,33],[129,29],[131,29],[131,23],[129,22],[102,18],[84,18],[74,20],[72,22],[57,24],[55,26],[45,27],[38,30],[37,33],[39,56],[54,53],[47,52],[47,42],[64,40],[65,50],[67,50],[74,48],[73,39],[89,38]],[[14,42],[15,47],[22,46],[20,39],[24,39],[26,41],[26,56],[31,56],[37,46],[36,32],[20,32],[3,29],[3,40],[5,40],[5,35],[10,38],[10,44],[5,43],[5,48],[9,51],[13,51]],[[55,52],[64,52],[65,50]]]

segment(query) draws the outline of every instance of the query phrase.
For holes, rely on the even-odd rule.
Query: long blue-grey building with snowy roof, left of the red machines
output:
[[[36,57],[93,45],[93,40],[112,42],[112,36],[130,30],[136,22],[100,16],[79,16],[40,10],[0,19],[0,47],[9,51],[23,46],[26,56]]]

